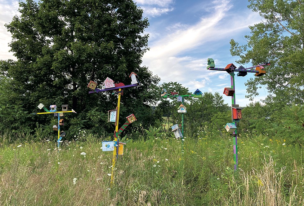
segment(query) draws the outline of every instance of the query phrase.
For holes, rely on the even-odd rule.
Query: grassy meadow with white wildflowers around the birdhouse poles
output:
[[[229,134],[198,131],[181,144],[157,132],[128,141],[111,187],[113,153],[81,134],[87,141],[59,152],[55,141],[7,144],[2,135],[0,205],[304,205],[303,149],[286,139],[240,136],[234,171]]]

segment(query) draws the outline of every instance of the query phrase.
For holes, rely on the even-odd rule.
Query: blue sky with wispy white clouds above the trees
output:
[[[230,87],[230,75],[225,71],[209,71],[207,59],[212,58],[217,68],[238,59],[230,55],[230,40],[240,45],[246,44],[245,35],[250,34],[249,25],[261,22],[258,13],[247,8],[246,0],[133,0],[147,17],[150,26],[145,29],[149,34],[149,48],[142,65],[147,66],[163,82],[177,81],[188,87],[190,92],[219,92],[228,105],[231,97],[223,94]],[[18,1],[0,0],[0,59],[16,59],[8,43],[10,33],[4,24],[11,22],[18,14]],[[243,65],[245,68],[253,65]],[[236,104],[246,106],[244,83],[254,77],[235,75]],[[141,80],[143,81],[143,80]],[[253,102],[265,99],[266,88],[258,90],[259,96]]]

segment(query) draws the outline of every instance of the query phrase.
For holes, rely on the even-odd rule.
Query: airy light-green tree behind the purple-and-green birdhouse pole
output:
[[[249,0],[248,8],[262,16],[250,26],[247,44],[230,41],[231,54],[238,63],[271,62],[266,75],[247,82],[249,97],[257,95],[258,85],[266,85],[266,102],[303,103],[304,100],[304,2],[302,0]],[[278,104],[277,104],[278,105]],[[281,104],[282,105],[282,104]]]

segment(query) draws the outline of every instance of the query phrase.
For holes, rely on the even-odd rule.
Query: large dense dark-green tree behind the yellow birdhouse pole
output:
[[[68,103],[81,113],[78,119],[95,116],[98,125],[106,119],[102,114],[115,108],[117,95],[88,94],[88,82],[101,85],[110,77],[129,85],[129,74],[135,72],[141,85],[124,91],[121,117],[132,112],[149,116],[149,88],[159,78],[140,66],[148,49],[143,32],[149,23],[132,0],[26,0],[19,5],[21,15],[6,24],[17,60],[0,64],[10,82],[7,101],[28,112],[37,111],[40,102]]]

